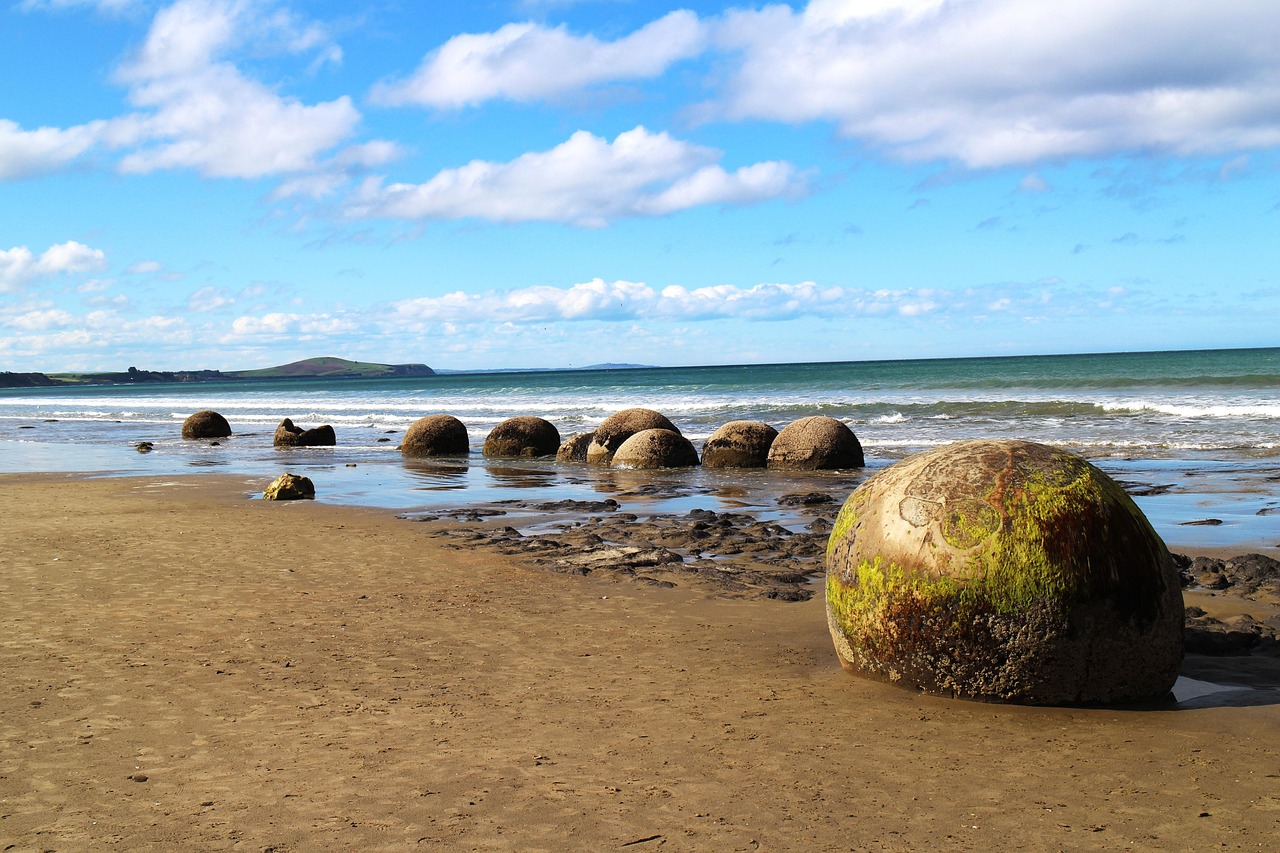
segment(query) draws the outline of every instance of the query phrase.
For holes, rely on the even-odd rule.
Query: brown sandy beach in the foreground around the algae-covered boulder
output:
[[[1280,849],[1274,658],[1158,710],[925,697],[846,675],[820,596],[246,492],[0,478],[0,849]]]

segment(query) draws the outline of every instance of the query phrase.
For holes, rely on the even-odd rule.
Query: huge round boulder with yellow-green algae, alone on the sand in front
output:
[[[828,540],[827,624],[851,672],[993,702],[1157,699],[1183,660],[1178,570],[1146,516],[1080,456],[1021,441],[863,483]]]

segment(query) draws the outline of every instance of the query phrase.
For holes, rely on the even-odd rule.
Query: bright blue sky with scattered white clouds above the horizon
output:
[[[0,0],[0,370],[1280,345],[1275,0]]]

